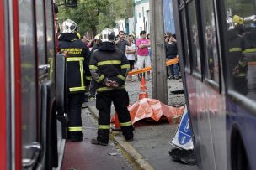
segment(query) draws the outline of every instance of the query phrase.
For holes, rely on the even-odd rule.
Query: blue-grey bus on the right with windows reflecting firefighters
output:
[[[256,169],[255,1],[174,0],[173,9],[200,169]]]

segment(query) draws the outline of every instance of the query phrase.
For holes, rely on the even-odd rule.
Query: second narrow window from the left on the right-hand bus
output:
[[[199,49],[199,39],[198,39],[198,25],[195,12],[195,1],[188,4],[189,10],[189,34],[190,34],[190,44],[191,44],[191,54],[192,54],[192,69],[195,72],[200,73],[200,49]]]

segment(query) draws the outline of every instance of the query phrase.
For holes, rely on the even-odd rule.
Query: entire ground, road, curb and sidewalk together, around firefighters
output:
[[[141,82],[127,81],[126,90],[129,93],[130,104],[138,100]],[[184,106],[184,94],[173,94],[171,91],[183,90],[181,80],[168,80],[168,105]],[[147,82],[149,98],[152,97],[152,82]],[[98,111],[95,101],[88,101],[89,106],[83,109],[83,142],[67,142],[64,162],[61,169],[172,169],[194,170],[197,166],[184,165],[174,162],[168,155],[170,140],[177,124],[169,125],[168,121],[138,121],[134,131],[134,141],[125,142],[120,132],[111,132],[109,146],[90,144],[91,138],[97,135]],[[112,106],[111,115],[115,115]],[[72,151],[77,151],[72,153]],[[69,160],[69,161],[67,161]],[[83,163],[81,163],[83,162]],[[109,162],[109,163],[108,163]],[[82,165],[79,165],[82,164]]]

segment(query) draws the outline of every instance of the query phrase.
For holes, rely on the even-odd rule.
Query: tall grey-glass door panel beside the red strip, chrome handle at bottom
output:
[[[21,63],[22,164],[33,167],[40,153],[38,142],[37,59],[34,4],[19,2],[19,44]]]

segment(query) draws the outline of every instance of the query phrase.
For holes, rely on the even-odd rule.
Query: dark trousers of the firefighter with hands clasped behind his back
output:
[[[118,114],[120,126],[126,140],[133,138],[133,127],[131,125],[130,113],[127,109],[129,105],[129,96],[125,90],[111,90],[97,93],[96,107],[99,110],[99,127],[98,137],[99,142],[109,142],[110,131],[110,111],[111,103],[114,103],[115,111]]]

